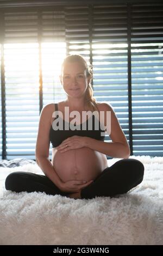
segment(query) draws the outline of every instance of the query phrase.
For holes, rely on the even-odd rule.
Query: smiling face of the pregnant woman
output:
[[[66,63],[60,77],[61,84],[70,97],[84,96],[90,79],[86,76],[86,69],[80,62]]]

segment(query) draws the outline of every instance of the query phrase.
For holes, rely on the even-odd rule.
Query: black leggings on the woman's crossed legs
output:
[[[81,197],[91,199],[95,197],[114,197],[123,194],[140,184],[143,180],[144,166],[136,159],[122,159],[110,167],[106,167],[101,174],[81,191]],[[28,172],[10,173],[5,180],[5,188],[15,192],[45,192],[46,194],[70,193],[62,192],[45,175]]]

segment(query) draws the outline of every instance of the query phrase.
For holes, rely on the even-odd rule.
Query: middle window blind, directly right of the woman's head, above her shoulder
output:
[[[111,103],[128,137],[127,7],[66,8],[66,42],[68,54],[92,63],[94,96]]]

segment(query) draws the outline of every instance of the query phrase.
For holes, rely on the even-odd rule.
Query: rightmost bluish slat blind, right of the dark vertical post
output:
[[[133,154],[163,155],[163,4],[131,8]]]

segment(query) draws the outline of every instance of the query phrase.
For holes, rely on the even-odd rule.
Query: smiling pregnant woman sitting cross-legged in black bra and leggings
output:
[[[40,114],[35,156],[45,175],[11,173],[7,190],[91,199],[114,197],[141,183],[144,166],[128,159],[129,145],[116,114],[110,104],[93,97],[91,80],[91,66],[82,56],[64,59],[60,81],[66,100],[46,105]],[[105,133],[112,142],[104,142]],[[109,167],[106,155],[122,160]]]

